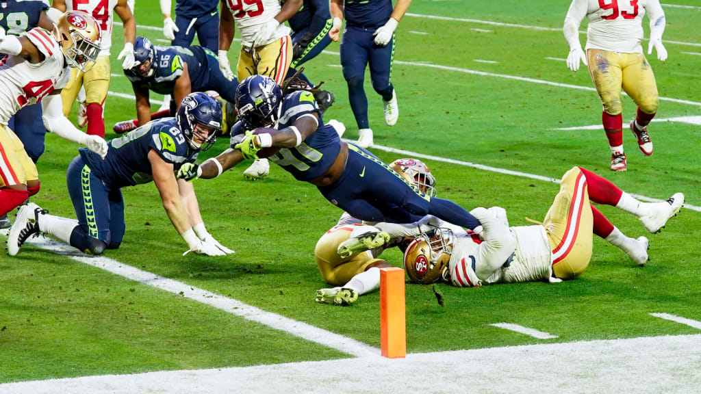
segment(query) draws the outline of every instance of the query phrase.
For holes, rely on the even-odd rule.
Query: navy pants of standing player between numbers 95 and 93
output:
[[[348,83],[348,100],[359,129],[370,127],[367,120],[367,97],[363,88],[365,67],[369,64],[372,88],[383,100],[392,100],[394,91],[390,72],[394,59],[395,34],[386,46],[377,46],[372,36],[376,29],[377,27],[346,26],[341,39],[343,78]]]

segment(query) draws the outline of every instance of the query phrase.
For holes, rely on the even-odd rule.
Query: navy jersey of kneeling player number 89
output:
[[[163,161],[178,170],[184,163],[196,160],[175,118],[151,121],[122,137],[110,140],[104,160],[86,148],[79,149],[83,160],[105,186],[118,189],[154,180],[149,151],[154,150]]]

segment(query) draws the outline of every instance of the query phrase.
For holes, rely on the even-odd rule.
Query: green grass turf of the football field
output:
[[[568,5],[569,1],[562,0],[414,1],[409,12],[559,29]],[[665,8],[665,12],[665,39],[697,40],[701,11]],[[138,2],[137,23],[161,27],[155,2]],[[646,31],[647,24],[644,20]],[[162,38],[158,31],[138,32],[156,43]],[[608,170],[610,154],[601,130],[552,130],[599,123],[601,104],[593,91],[447,71],[426,63],[400,63],[428,62],[592,86],[586,69],[572,73],[564,62],[544,59],[566,57],[562,32],[407,16],[398,36],[392,79],[401,116],[393,128],[384,125],[381,99],[373,92],[369,76],[366,79],[376,144],[554,178],[581,165],[626,191],[653,198],[683,191],[687,203],[701,205],[701,164],[696,160],[700,126],[653,123],[655,156],[651,158],[639,154],[634,138],[625,133],[629,170],[614,174]],[[585,36],[580,39],[584,43]],[[121,27],[115,27],[113,42],[113,53],[118,53],[123,43]],[[674,43],[666,46],[667,62],[659,62],[654,54],[648,56],[660,96],[701,102],[701,57],[682,53],[701,50]],[[341,69],[329,67],[339,62],[338,44],[327,50],[330,53],[306,64],[306,74],[313,81],[325,81],[326,88],[334,92],[337,102],[325,118],[346,123],[346,136],[353,138],[357,129]],[[236,64],[235,50],[230,58]],[[113,74],[120,73],[120,64],[113,60]],[[131,93],[123,76],[112,79],[110,90]],[[634,111],[626,97],[624,118],[632,118]],[[699,115],[697,105],[660,102],[659,118]],[[132,116],[132,100],[108,97],[108,129]],[[109,133],[109,137],[114,135]],[[39,162],[42,189],[33,201],[56,215],[72,217],[65,168],[76,147],[54,135],[47,137],[46,144],[46,154]],[[214,156],[226,147],[226,141],[219,141],[200,158]],[[374,153],[385,161],[397,158],[379,150]],[[437,177],[439,196],[466,208],[500,205],[508,211],[512,225],[529,224],[524,217],[543,219],[558,189],[556,184],[533,179],[427,163]],[[195,183],[207,228],[222,244],[236,250],[233,256],[182,257],[186,245],[168,222],[152,184],[123,190],[127,233],[121,248],[105,256],[379,346],[379,294],[361,297],[348,308],[313,301],[315,290],[327,287],[314,263],[314,245],[341,211],[313,186],[295,181],[280,168],[274,167],[264,182],[245,181],[240,175],[243,168]],[[431,286],[407,285],[407,350],[697,333],[648,313],[701,319],[701,252],[697,247],[701,214],[681,210],[662,233],[650,236],[634,217],[611,207],[601,211],[627,235],[650,238],[648,266],[635,266],[620,250],[595,238],[592,262],[576,281],[475,289],[436,285],[444,306],[437,303]],[[388,251],[384,256],[401,265],[399,252]],[[17,258],[0,256],[0,288],[0,383],[345,357],[32,246],[22,248]],[[496,322],[526,325],[559,337],[532,339],[489,325]]]

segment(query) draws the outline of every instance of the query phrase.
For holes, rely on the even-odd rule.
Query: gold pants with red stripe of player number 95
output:
[[[284,36],[252,51],[250,48],[241,48],[236,74],[238,81],[243,81],[251,75],[267,75],[275,79],[279,85],[285,80],[290,63],[292,63],[292,39],[290,36]]]

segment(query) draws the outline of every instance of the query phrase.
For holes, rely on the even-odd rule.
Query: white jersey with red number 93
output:
[[[644,13],[651,21],[665,15],[659,0],[573,0],[566,18],[589,20],[585,49],[642,53]]]

